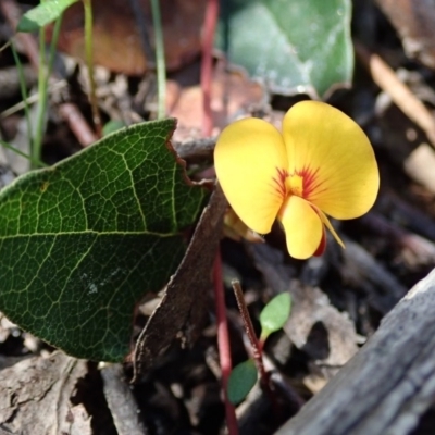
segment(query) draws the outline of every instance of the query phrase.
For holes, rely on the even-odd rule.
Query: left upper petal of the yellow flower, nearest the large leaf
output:
[[[285,194],[287,154],[281,133],[253,117],[228,125],[217,139],[214,166],[241,221],[257,233],[269,233]]]

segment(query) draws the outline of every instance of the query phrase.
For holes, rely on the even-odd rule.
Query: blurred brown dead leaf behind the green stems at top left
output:
[[[151,48],[154,30],[149,0],[138,0],[146,23],[141,23]],[[128,75],[141,75],[154,65],[146,59],[137,20],[125,0],[92,0],[94,61],[98,65]],[[194,60],[200,51],[200,34],[206,0],[160,1],[166,67],[176,70]],[[62,21],[58,48],[75,58],[85,59],[83,4],[69,8]],[[48,35],[51,38],[51,35]]]

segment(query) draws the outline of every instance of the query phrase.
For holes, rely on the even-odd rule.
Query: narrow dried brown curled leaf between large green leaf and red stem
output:
[[[202,212],[185,258],[137,340],[134,381],[154,364],[175,337],[191,344],[200,334],[226,207],[217,186]]]

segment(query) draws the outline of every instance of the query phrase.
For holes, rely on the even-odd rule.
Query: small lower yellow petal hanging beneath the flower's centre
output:
[[[311,257],[322,241],[323,224],[310,203],[293,195],[279,210],[278,219],[284,226],[289,254],[299,260]]]

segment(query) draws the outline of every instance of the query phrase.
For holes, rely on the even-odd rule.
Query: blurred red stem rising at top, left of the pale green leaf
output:
[[[219,15],[219,0],[209,0],[206,8],[206,17],[202,28],[202,61],[201,61],[201,89],[202,89],[202,136],[211,136],[213,117],[211,112],[211,86],[213,76],[213,41]]]

